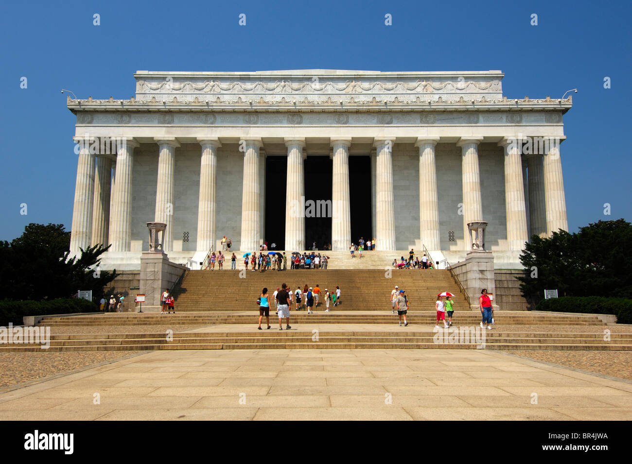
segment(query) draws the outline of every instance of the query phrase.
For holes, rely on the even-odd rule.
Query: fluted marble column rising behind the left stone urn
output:
[[[176,138],[154,138],[158,143],[158,180],[156,185],[155,222],[164,222],[165,253],[173,250],[173,184],[176,147],[180,146]]]

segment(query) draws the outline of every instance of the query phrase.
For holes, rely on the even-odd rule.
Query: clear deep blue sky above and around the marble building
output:
[[[500,69],[509,98],[573,94],[562,167],[571,232],[632,219],[632,3],[588,1],[38,1],[0,17],[0,239],[27,223],[70,230],[79,98],[130,98],[149,71]],[[92,24],[99,13],[100,26]],[[246,27],[238,15],[246,14]],[[392,15],[392,26],[384,15]],[[538,15],[538,25],[530,16]],[[27,77],[28,88],[20,88]],[[604,88],[604,77],[611,88]],[[20,204],[27,215],[20,215]],[[611,215],[604,215],[604,203]]]

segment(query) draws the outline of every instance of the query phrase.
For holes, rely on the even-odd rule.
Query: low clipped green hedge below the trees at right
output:
[[[632,299],[614,297],[561,297],[540,301],[538,311],[614,314],[618,324],[632,324]]]

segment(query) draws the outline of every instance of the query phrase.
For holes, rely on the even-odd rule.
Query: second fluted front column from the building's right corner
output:
[[[522,143],[520,139],[504,138],[499,144],[505,152],[505,212],[507,246],[520,251],[529,238],[526,228],[525,186],[522,172]]]

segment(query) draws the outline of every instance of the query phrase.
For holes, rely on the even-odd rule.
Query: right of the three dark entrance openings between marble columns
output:
[[[351,242],[372,239],[371,158],[349,157],[349,203],[351,203]],[[351,244],[349,244],[351,245]],[[348,245],[348,246],[349,246]],[[365,245],[366,246],[366,245]]]

